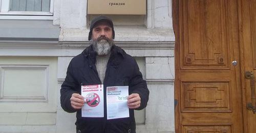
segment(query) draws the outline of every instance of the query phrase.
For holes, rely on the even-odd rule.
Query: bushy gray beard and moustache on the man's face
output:
[[[96,53],[99,56],[102,56],[102,55],[107,55],[110,53],[111,48],[113,46],[113,41],[112,40],[108,41],[105,39],[92,40],[92,44],[93,44],[94,51],[96,51]]]

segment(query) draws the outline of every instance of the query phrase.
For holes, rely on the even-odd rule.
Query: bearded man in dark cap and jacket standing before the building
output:
[[[115,46],[113,21],[97,16],[91,21],[89,40],[91,45],[75,56],[68,66],[67,76],[60,90],[61,107],[69,113],[76,112],[77,132],[136,132],[134,109],[146,107],[149,91],[138,64],[133,57]],[[81,85],[103,84],[103,117],[82,117],[84,97]],[[106,87],[129,86],[127,106],[129,117],[110,119],[106,117]]]

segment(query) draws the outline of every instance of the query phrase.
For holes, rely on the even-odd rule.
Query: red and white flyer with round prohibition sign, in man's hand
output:
[[[82,85],[81,95],[85,101],[82,117],[104,117],[103,84]]]

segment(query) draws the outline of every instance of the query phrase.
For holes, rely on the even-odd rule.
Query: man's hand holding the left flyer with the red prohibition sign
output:
[[[83,99],[84,98],[78,93],[73,93],[70,98],[71,106],[75,109],[81,109],[84,104]]]

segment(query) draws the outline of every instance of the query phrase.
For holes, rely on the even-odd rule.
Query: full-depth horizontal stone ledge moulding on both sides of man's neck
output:
[[[134,57],[173,57],[174,41],[116,41]],[[0,41],[0,56],[66,56],[80,54],[90,41]]]

